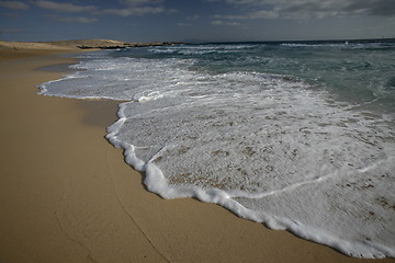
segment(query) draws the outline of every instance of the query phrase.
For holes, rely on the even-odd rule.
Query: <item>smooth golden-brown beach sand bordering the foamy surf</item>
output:
[[[34,69],[70,62],[54,55],[71,49],[0,52],[1,263],[371,262],[217,205],[148,193],[104,139],[114,102],[35,94],[61,75]]]

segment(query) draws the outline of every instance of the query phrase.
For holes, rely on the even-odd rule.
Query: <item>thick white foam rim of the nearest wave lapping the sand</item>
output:
[[[105,138],[114,147],[124,149],[125,161],[129,165],[135,170],[145,173],[144,184],[149,192],[156,193],[167,199],[192,197],[204,203],[217,204],[233,211],[238,217],[264,224],[270,229],[287,230],[300,238],[328,245],[349,256],[364,259],[395,258],[395,251],[383,244],[373,243],[368,240],[363,242],[342,240],[321,228],[307,226],[300,221],[278,217],[269,213],[248,209],[232,198],[237,196],[230,196],[229,193],[218,188],[200,188],[192,185],[170,185],[157,165],[150,161],[144,162],[138,159],[135,155],[133,145],[117,139],[117,134],[126,121],[124,108],[128,103],[136,102],[125,102],[119,105],[117,116],[120,119],[108,128],[109,134]],[[235,195],[235,193],[236,192],[234,192],[233,195]]]

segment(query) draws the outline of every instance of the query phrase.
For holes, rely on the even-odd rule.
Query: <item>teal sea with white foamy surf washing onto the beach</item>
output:
[[[42,94],[120,101],[111,144],[193,196],[357,258],[395,258],[395,42],[101,50]]]

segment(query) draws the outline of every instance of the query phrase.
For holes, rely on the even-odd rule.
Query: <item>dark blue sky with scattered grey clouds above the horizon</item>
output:
[[[395,0],[0,0],[2,41],[382,37],[395,37]]]

